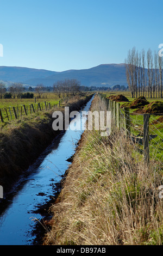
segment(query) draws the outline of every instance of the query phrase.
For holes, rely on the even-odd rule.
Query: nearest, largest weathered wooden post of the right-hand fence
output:
[[[144,162],[149,163],[149,114],[143,114],[143,153]]]

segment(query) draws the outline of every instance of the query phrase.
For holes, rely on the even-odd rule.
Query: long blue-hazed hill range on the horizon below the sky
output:
[[[116,84],[127,86],[125,64],[101,64],[90,69],[67,70],[62,72],[43,69],[30,69],[0,66],[0,80],[20,82],[36,86],[53,86],[54,82],[65,78],[76,78],[83,86],[111,87]]]

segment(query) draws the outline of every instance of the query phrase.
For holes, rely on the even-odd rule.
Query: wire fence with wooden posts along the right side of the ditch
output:
[[[111,111],[111,118],[118,129],[135,144],[137,151],[143,155],[145,164],[150,160],[163,168],[163,116],[161,114],[131,113],[129,107],[121,108],[119,102],[99,95],[102,105]]]

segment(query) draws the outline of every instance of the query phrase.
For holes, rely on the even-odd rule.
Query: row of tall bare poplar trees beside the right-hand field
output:
[[[162,66],[163,59],[158,52],[149,48],[147,53],[133,47],[128,51],[126,77],[132,97],[147,96],[162,98]]]

